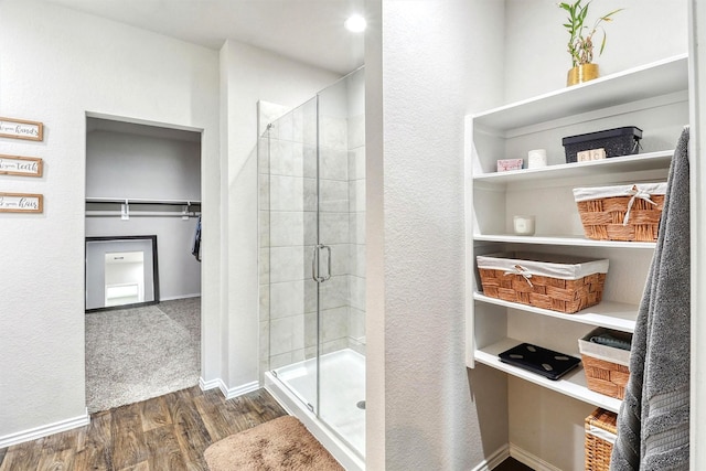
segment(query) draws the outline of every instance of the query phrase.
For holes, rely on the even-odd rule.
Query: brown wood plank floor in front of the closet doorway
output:
[[[204,450],[287,413],[265,390],[225,400],[199,386],[90,416],[90,424],[0,449],[0,471],[207,470]]]

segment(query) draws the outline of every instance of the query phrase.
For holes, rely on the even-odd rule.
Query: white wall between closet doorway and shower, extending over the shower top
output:
[[[221,377],[229,390],[258,383],[257,101],[293,108],[338,78],[235,41],[221,49],[222,218],[228,233]]]

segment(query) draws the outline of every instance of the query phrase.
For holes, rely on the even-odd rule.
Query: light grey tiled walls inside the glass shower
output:
[[[260,104],[260,124],[281,107]],[[259,140],[260,372],[317,353],[315,101],[274,122]],[[363,116],[320,117],[320,239],[332,250],[321,285],[322,353],[365,347]]]

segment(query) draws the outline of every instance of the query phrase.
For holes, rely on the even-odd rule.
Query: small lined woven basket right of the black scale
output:
[[[616,349],[608,345],[592,343],[590,339],[601,333],[610,333],[612,336],[630,342],[632,335],[624,332],[616,332],[598,328],[589,332],[578,341],[578,350],[581,353],[584,373],[589,389],[606,396],[622,399],[625,397],[625,386],[630,378],[630,351]]]

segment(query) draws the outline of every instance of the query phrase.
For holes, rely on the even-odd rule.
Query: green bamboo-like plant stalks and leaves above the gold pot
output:
[[[622,8],[619,8],[608,14],[603,14],[598,18],[593,26],[590,28],[584,25],[584,22],[586,21],[588,7],[591,2],[588,1],[586,4],[581,4],[581,1],[582,0],[576,0],[574,3],[559,3],[559,8],[563,8],[569,13],[568,23],[565,23],[564,28],[566,28],[570,35],[568,53],[571,55],[571,66],[574,67],[593,62],[593,34],[596,34],[598,30],[603,33],[598,55],[603,53],[603,49],[606,47],[606,30],[601,23],[612,21],[611,17],[622,10]]]

